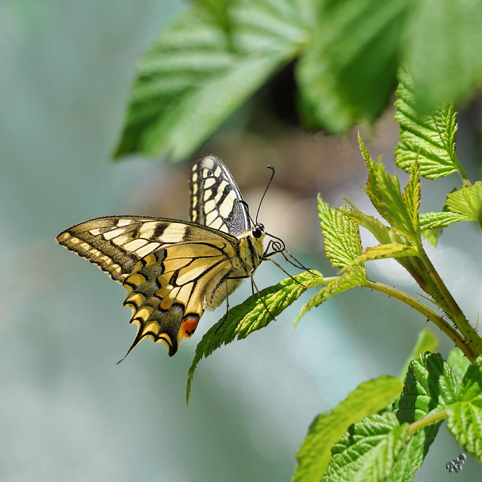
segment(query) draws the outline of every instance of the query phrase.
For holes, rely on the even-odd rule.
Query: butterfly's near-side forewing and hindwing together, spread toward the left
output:
[[[207,285],[233,271],[237,239],[173,219],[108,216],[72,226],[57,241],[126,288],[124,305],[138,327],[129,351],[151,338],[172,356],[196,329]]]

